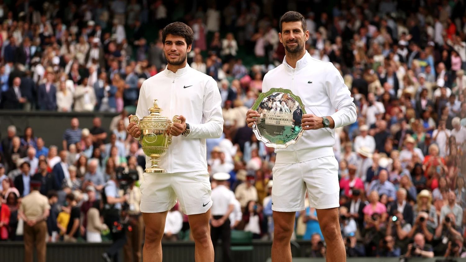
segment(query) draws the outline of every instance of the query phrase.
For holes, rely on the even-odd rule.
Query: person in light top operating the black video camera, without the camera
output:
[[[126,242],[126,234],[120,225],[120,215],[122,213],[123,203],[126,203],[127,196],[120,197],[118,189],[117,175],[110,175],[110,180],[105,184],[103,189],[103,218],[105,224],[110,228],[110,235],[113,243],[105,253],[102,254],[106,262],[111,262],[111,258],[118,261],[118,252],[123,248]]]

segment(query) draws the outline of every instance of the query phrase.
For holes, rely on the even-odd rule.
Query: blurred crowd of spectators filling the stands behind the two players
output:
[[[60,145],[33,128],[10,126],[1,134],[0,239],[21,239],[18,207],[30,180],[42,181],[40,193],[52,207],[48,241],[102,241],[108,234],[99,218],[105,222],[102,195],[123,173],[139,180],[118,198],[120,208],[131,207],[128,217],[140,219],[145,160],[127,135],[127,116],[142,82],[165,68],[160,29],[171,21],[192,27],[188,63],[219,84],[224,134],[207,140],[207,159],[211,175],[231,175],[237,198],[231,227],[271,239],[275,154],[257,141],[245,114],[264,74],[283,61],[283,10],[306,17],[308,53],[336,66],[358,110],[356,123],[337,128],[334,146],[348,255],[466,257],[461,0],[1,1],[0,108],[116,116],[108,127],[98,117],[87,127],[73,118],[61,127]],[[140,246],[143,227],[138,230]],[[312,242],[309,256],[325,256],[308,204],[296,214],[294,237]],[[165,239],[189,238],[177,205]]]

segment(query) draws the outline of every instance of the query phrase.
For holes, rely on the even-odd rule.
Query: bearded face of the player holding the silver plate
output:
[[[288,53],[300,53],[309,39],[309,31],[303,31],[301,21],[283,22],[278,37]]]

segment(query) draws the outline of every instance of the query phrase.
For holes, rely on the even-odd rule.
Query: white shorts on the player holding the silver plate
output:
[[[294,212],[304,210],[306,190],[311,208],[340,206],[338,161],[324,156],[300,163],[275,164],[273,168],[272,210]]]

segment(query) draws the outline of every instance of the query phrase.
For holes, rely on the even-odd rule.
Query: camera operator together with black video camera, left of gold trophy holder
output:
[[[132,231],[129,225],[130,215],[128,212],[131,207],[127,202],[129,199],[128,189],[137,180],[139,180],[137,172],[128,172],[124,171],[123,168],[117,168],[116,174],[110,175],[110,180],[105,184],[102,194],[103,217],[105,224],[110,228],[113,240],[110,248],[102,254],[106,262],[111,262],[112,258],[115,262],[119,261],[118,252],[126,242],[127,231]],[[120,189],[124,192],[123,196],[120,195]]]

